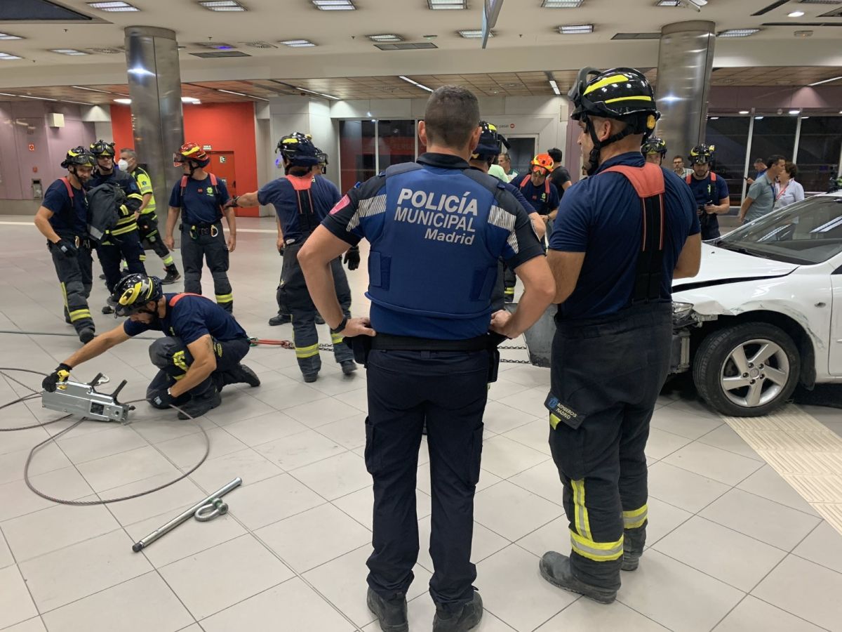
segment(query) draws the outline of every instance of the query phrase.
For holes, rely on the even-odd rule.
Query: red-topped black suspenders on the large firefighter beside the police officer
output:
[[[663,169],[657,164],[646,163],[642,167],[616,165],[600,174],[622,174],[637,192],[642,212],[642,239],[637,255],[632,305],[658,301],[663,280],[663,235],[665,228],[665,191]]]

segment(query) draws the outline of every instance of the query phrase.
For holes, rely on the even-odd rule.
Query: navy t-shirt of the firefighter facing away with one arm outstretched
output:
[[[274,179],[258,190],[258,202],[274,206],[274,211],[280,220],[280,229],[287,243],[293,239],[300,241],[301,238],[306,238],[312,233],[312,230],[322,223],[325,217],[328,217],[330,210],[342,197],[336,185],[327,178],[322,178],[321,175],[292,176],[292,178],[294,179],[292,181],[286,177]],[[311,180],[309,196],[307,190],[303,190],[307,184],[306,179]],[[302,190],[296,191],[293,181]],[[301,195],[301,208],[299,195]],[[312,228],[308,229],[306,219],[301,217],[301,211],[310,212],[311,202],[315,217],[312,217],[310,223]]]

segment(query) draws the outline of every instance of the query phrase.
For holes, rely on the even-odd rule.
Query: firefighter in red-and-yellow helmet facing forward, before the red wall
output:
[[[228,313],[234,311],[234,293],[228,281],[228,254],[237,247],[237,220],[226,206],[228,189],[216,175],[205,171],[210,158],[195,142],[185,142],[173,154],[173,165],[181,167],[181,180],[169,196],[167,236],[163,243],[175,246],[173,229],[181,218],[181,264],[184,266],[184,292],[202,293],[202,259],[213,277],[216,303]],[[228,242],[222,233],[222,216],[228,222]]]

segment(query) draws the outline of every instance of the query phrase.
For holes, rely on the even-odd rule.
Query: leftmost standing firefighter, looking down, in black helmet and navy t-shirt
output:
[[[79,340],[93,340],[95,329],[88,295],[91,293],[91,245],[88,241],[88,200],[85,184],[95,161],[85,147],[67,151],[61,167],[67,176],[47,187],[44,201],[35,213],[35,226],[47,239],[47,249],[56,267],[64,298],[64,318],[73,325]]]

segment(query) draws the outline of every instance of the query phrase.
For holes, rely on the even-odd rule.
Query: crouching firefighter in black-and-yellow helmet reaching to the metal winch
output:
[[[258,376],[240,363],[248,353],[248,335],[210,299],[164,294],[157,276],[135,274],[117,284],[109,304],[115,318],[127,318],[125,322],[61,362],[44,378],[45,390],[55,390],[73,368],[149,329],[164,333],[149,347],[152,364],[159,369],[147,387],[147,399],[155,408],[173,404],[184,411],[179,419],[199,417],[221,403],[220,391],[226,385],[260,385]]]

